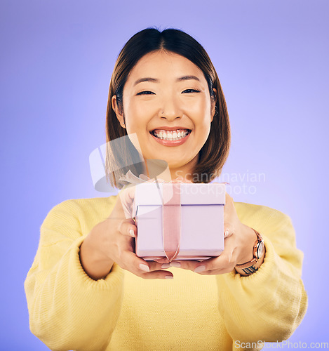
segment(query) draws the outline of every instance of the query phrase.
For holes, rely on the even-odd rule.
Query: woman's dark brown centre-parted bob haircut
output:
[[[124,145],[120,146],[118,150],[114,150],[112,143],[108,143],[116,138],[127,135],[126,128],[121,127],[112,109],[112,96],[116,95],[118,109],[122,113],[123,86],[126,84],[128,74],[130,74],[133,67],[135,67],[137,62],[144,55],[152,51],[161,50],[182,55],[199,67],[208,83],[211,99],[216,98],[213,88],[217,91],[215,103],[216,113],[211,122],[208,139],[199,152],[199,160],[194,168],[192,182],[209,183],[215,177],[220,176],[222,167],[229,155],[231,131],[227,105],[215,67],[203,46],[180,29],[169,28],[162,32],[155,28],[143,29],[133,35],[133,37],[127,41],[126,45],[123,46],[116,60],[109,86],[106,114],[107,152],[105,169],[107,180],[110,181],[112,186],[119,189],[121,189],[123,185],[118,185],[117,180],[119,180],[121,176],[124,176],[129,170],[137,177],[141,173],[145,173],[145,162],[142,160],[138,163],[136,162],[136,160],[141,159],[141,157],[131,142],[131,145],[127,147]],[[128,140],[128,138],[124,139]],[[129,143],[129,141],[126,143]],[[133,149],[135,149],[135,152],[131,152]],[[120,157],[115,158],[114,155],[120,155]],[[154,176],[150,175],[150,178],[154,178]]]

